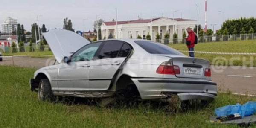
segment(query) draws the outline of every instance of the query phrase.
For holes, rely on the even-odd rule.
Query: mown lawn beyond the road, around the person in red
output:
[[[186,47],[186,44],[174,44],[169,46],[177,50],[185,50],[185,51],[188,50]],[[255,47],[256,47],[256,40],[226,41],[226,42],[198,43],[195,46],[195,51],[256,53]],[[188,52],[184,52],[184,54],[188,55]],[[217,54],[195,53],[195,57],[207,59],[212,62],[212,65],[256,67],[256,55],[217,55]],[[232,61],[232,58],[234,59],[233,61]],[[251,60],[253,63],[247,64],[248,61],[250,62]]]

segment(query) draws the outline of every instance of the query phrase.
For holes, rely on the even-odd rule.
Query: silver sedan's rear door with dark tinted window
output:
[[[131,52],[122,41],[106,41],[89,69],[90,90],[108,90],[116,71]]]

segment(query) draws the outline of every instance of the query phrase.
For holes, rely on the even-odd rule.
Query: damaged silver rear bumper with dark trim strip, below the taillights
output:
[[[217,84],[200,79],[133,78],[142,99],[166,99],[177,94],[181,100],[212,101],[217,96]]]

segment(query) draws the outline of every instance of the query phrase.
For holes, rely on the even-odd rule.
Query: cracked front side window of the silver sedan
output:
[[[90,61],[102,42],[89,44],[72,55],[71,62]]]

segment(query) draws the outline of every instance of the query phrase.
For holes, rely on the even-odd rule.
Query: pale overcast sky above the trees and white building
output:
[[[208,0],[207,22],[218,24],[217,29],[225,19],[239,17],[256,17],[256,0]],[[96,15],[101,15],[105,21],[116,18],[115,8],[118,9],[118,20],[136,20],[138,15],[143,19],[151,16],[173,17],[183,19],[197,19],[199,4],[199,23],[204,24],[204,0],[0,0],[0,23],[7,17],[18,19],[25,29],[31,30],[31,24],[39,18],[40,26],[44,23],[47,29],[62,28],[63,19],[68,17],[73,22],[75,30],[93,29]],[[220,13],[219,11],[223,12]],[[203,25],[204,26],[204,25]]]

